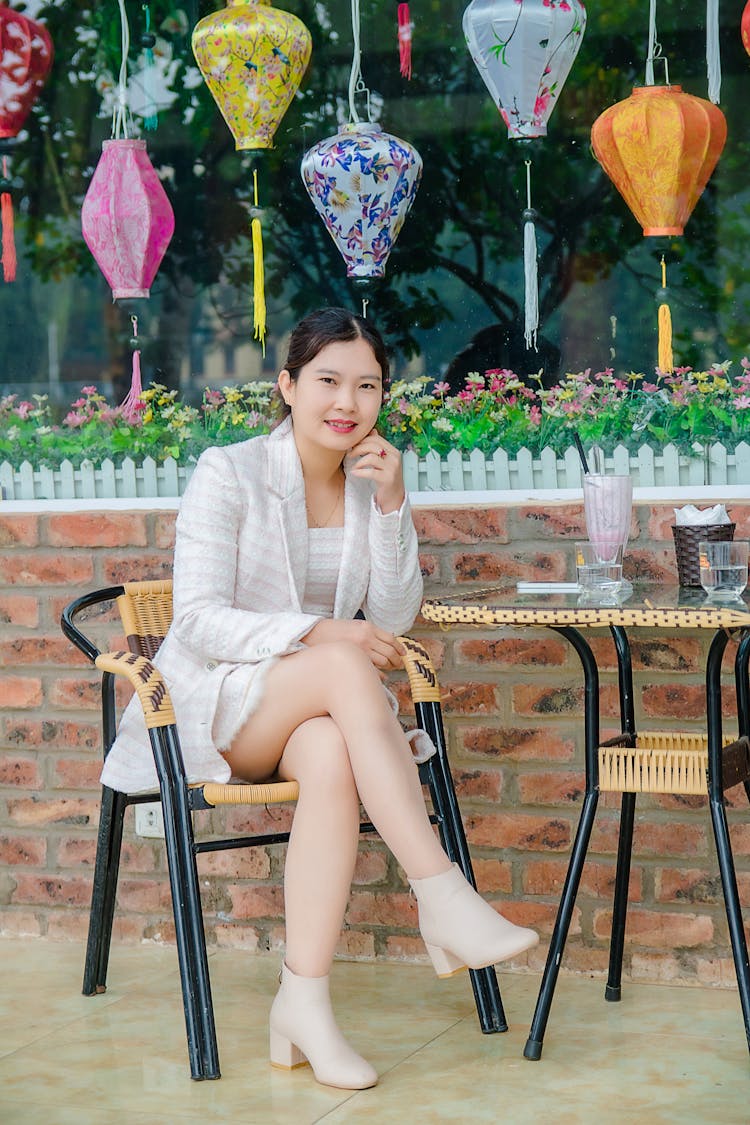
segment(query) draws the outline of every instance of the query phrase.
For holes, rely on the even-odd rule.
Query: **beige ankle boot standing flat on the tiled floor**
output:
[[[281,988],[271,1007],[271,1064],[284,1070],[309,1062],[323,1086],[365,1090],[378,1074],[338,1030],[327,976],[297,976],[281,966]]]

